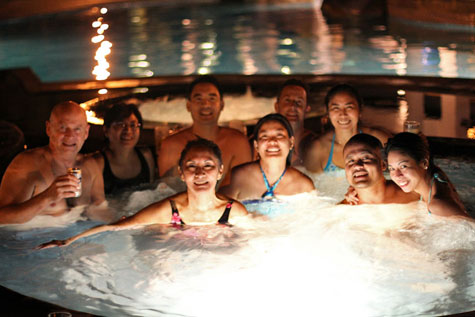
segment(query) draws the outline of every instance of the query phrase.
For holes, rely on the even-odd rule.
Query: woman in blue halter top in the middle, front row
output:
[[[290,166],[294,136],[281,114],[261,118],[254,129],[254,150],[258,159],[233,168],[231,183],[222,189],[239,200],[294,195],[315,189],[306,175]]]

